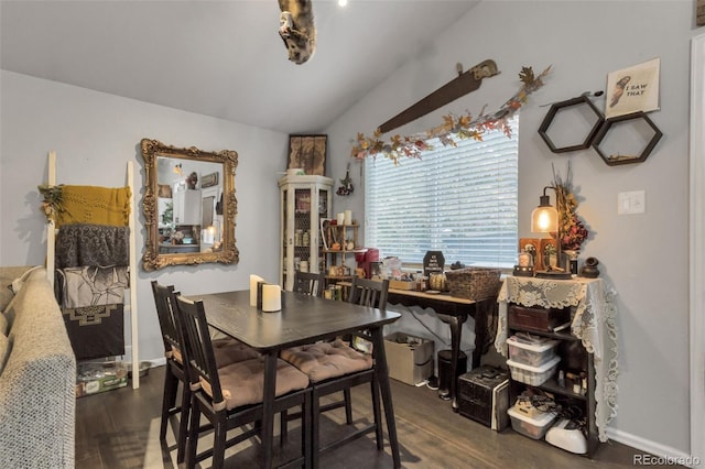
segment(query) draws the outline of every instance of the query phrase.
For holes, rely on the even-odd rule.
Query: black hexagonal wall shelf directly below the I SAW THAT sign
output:
[[[593,148],[610,166],[643,162],[663,133],[646,112],[607,119],[595,137]]]

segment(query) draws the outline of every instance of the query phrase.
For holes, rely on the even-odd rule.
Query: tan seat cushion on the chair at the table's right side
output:
[[[292,347],[281,358],[308,375],[316,383],[330,378],[372,368],[372,357],[361,353],[341,340]]]

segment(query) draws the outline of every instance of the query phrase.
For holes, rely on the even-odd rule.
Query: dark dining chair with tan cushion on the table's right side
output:
[[[387,307],[387,293],[389,281],[371,281],[367,279],[352,277],[349,302],[361,306]],[[370,340],[369,335],[359,331],[366,340]],[[281,352],[281,358],[294,364],[306,373],[313,384],[313,396],[311,403],[312,411],[312,458],[313,467],[318,466],[319,456],[326,451],[335,449],[352,439],[356,439],[370,432],[376,433],[377,448],[382,450],[383,436],[381,427],[381,413],[379,404],[379,383],[375,370],[371,350],[360,351],[350,347],[340,338],[333,342],[317,342],[306,346],[292,347]],[[373,422],[354,432],[346,433],[340,439],[332,443],[321,444],[321,414],[332,408],[346,407],[346,423],[352,424],[352,411],[350,405],[350,389],[360,384],[370,385],[372,397]],[[327,395],[343,391],[344,400],[322,405],[321,400]]]

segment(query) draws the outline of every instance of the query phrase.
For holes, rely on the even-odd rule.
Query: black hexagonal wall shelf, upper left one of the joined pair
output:
[[[554,102],[543,118],[539,134],[553,153],[587,149],[605,121],[587,96]]]

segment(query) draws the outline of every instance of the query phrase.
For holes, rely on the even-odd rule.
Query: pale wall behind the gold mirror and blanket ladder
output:
[[[46,219],[39,210],[36,186],[47,181],[48,151],[56,151],[57,182],[62,184],[118,187],[126,184],[127,162],[134,161],[139,190],[144,184],[139,144],[150,138],[174,146],[238,152],[236,246],[240,262],[155,272],[140,268],[140,358],[152,360],[164,355],[151,280],[174,284],[184,294],[246,288],[249,274],[254,272],[276,281],[276,173],[286,167],[286,134],[4,70],[0,77],[0,265],[44,263]],[[141,257],[144,217],[141,206],[137,208]]]

